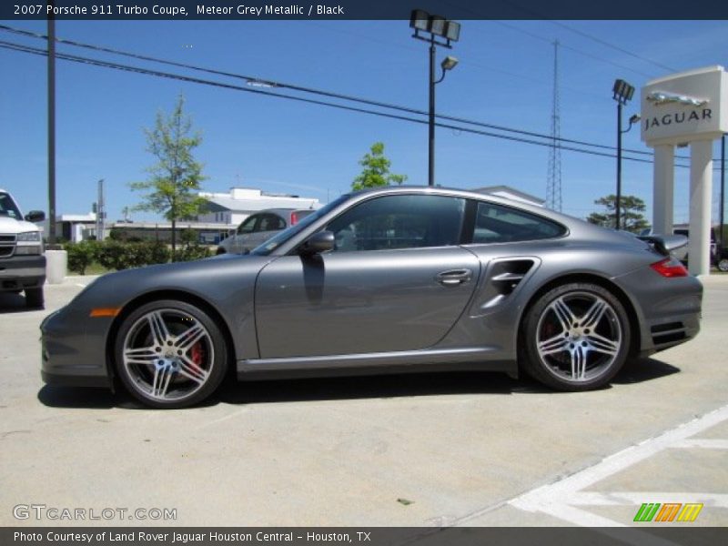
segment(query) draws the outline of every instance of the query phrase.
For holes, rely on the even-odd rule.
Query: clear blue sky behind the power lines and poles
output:
[[[45,22],[3,24],[45,34]],[[56,22],[59,38],[426,109],[427,45],[410,34],[407,21]],[[0,36],[45,47],[41,40]],[[438,62],[446,55],[460,59],[437,86],[438,112],[548,134],[554,39],[563,45],[561,136],[608,146],[615,142],[615,78],[639,87],[669,74],[666,68],[728,62],[726,21],[462,21],[460,42],[438,51]],[[70,45],[58,51],[241,85]],[[25,211],[47,212],[45,57],[0,49],[0,69],[0,187]],[[393,172],[408,175],[408,183],[427,183],[426,125],[63,60],[57,61],[56,91],[59,214],[88,212],[99,178],[106,180],[109,219],[138,203],[141,196],[128,183],[145,179],[153,162],[143,128],[154,124],[158,110],[171,110],[180,93],[203,132],[196,156],[205,164],[207,191],[260,187],[326,202],[349,189],[359,158],[376,141],[385,143]],[[638,103],[625,109],[625,120]],[[624,147],[648,150],[639,127],[624,136]],[[719,153],[716,143],[714,157]],[[547,161],[546,147],[437,132],[442,185],[507,184],[545,197]],[[613,158],[563,151],[561,165],[564,212],[585,217],[597,209],[596,198],[614,192]],[[625,161],[622,176],[623,194],[642,197],[649,207],[652,165]],[[676,169],[676,221],[687,220],[688,176],[688,169]],[[717,215],[717,171],[713,187]]]

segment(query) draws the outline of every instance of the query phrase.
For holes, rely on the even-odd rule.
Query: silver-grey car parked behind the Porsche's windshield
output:
[[[295,226],[313,208],[268,208],[243,220],[235,233],[220,241],[217,254],[247,254],[287,227]]]

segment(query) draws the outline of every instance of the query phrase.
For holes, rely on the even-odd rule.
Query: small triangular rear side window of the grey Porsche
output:
[[[510,243],[561,237],[566,228],[517,208],[480,201],[473,243]]]

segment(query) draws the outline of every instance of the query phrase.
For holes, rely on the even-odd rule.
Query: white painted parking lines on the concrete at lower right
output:
[[[581,470],[563,480],[531,490],[508,502],[524,511],[542,512],[576,525],[622,527],[623,523],[584,511],[578,506],[624,505],[637,506],[645,499],[651,502],[703,502],[709,506],[728,508],[728,495],[700,492],[638,492],[614,491],[608,493],[582,492],[585,488],[648,459],[663,450],[674,448],[728,449],[728,440],[693,439],[695,434],[728,420],[728,406],[703,417],[668,430],[660,436],[622,450],[602,462]],[[470,518],[475,517],[473,514]],[[470,519],[469,518],[469,519]]]

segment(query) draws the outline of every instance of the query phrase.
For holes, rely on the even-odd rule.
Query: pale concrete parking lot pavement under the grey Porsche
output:
[[[38,325],[87,282],[46,287],[45,311],[0,294],[4,526],[633,525],[648,502],[703,503],[692,523],[663,525],[728,525],[728,276],[704,280],[697,339],[610,389],[553,393],[497,374],[307,379],[227,384],[177,411],[43,385]],[[176,520],[130,520],[138,509]]]

